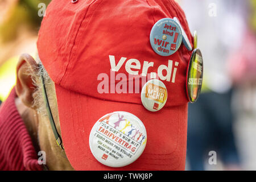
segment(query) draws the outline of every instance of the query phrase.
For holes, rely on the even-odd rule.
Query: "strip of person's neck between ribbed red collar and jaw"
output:
[[[31,137],[36,152],[40,151],[38,143],[38,115],[36,114],[36,111],[24,105],[18,97],[15,98],[15,105],[20,117],[23,119],[24,124],[26,125],[28,134]]]

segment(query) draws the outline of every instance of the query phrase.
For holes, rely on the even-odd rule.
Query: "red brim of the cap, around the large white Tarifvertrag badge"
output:
[[[61,137],[65,152],[76,170],[184,170],[187,145],[187,104],[151,112],[143,105],[100,100],[55,85]],[[139,94],[138,94],[139,95]],[[98,162],[89,147],[93,125],[103,115],[126,111],[136,115],[147,130],[142,155],[125,167]]]

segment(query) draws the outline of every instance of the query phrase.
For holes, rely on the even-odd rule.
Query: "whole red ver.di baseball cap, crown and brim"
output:
[[[37,47],[46,71],[55,82],[61,137],[74,169],[185,168],[188,104],[185,84],[192,52],[181,44],[174,54],[161,56],[150,44],[154,24],[160,19],[174,17],[179,19],[192,44],[183,10],[172,0],[53,0],[48,5]],[[129,60],[139,62],[128,64]],[[175,65],[170,65],[170,61],[179,63],[174,82],[166,78],[166,70],[159,69],[168,68],[173,73]],[[150,62],[152,64],[148,66]],[[168,92],[167,102],[159,111],[148,111],[143,106],[141,90],[117,93],[113,89],[121,81],[121,78],[114,77],[119,73],[127,77],[122,83],[129,87],[129,73],[139,77],[159,70],[163,71],[162,78],[165,78],[159,80],[166,85]],[[103,77],[109,79],[104,88],[109,93],[99,92]],[[141,119],[147,130],[147,146],[135,162],[113,168],[94,158],[89,135],[98,119],[119,110]]]

